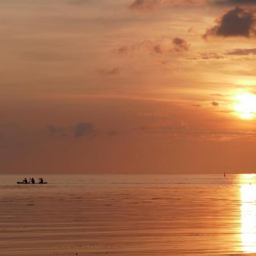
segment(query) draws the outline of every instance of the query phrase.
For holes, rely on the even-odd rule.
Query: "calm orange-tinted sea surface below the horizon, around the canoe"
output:
[[[0,255],[256,255],[255,175],[23,178],[0,175]]]

